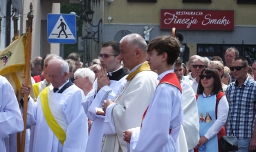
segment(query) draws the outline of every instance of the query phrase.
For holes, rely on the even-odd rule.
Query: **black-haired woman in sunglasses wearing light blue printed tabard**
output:
[[[228,117],[228,101],[223,93],[217,70],[205,68],[199,77],[196,95],[198,112],[199,115],[208,115],[211,121],[199,123],[200,139],[195,148],[207,152],[221,151],[219,140],[220,135],[225,135],[223,125]]]

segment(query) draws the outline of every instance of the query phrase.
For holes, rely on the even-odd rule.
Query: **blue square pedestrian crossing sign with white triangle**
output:
[[[75,44],[76,20],[75,15],[48,14],[47,37],[49,43]]]

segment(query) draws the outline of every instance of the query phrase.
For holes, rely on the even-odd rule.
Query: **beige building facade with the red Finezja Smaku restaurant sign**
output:
[[[159,35],[171,35],[172,28],[183,35],[183,44],[190,48],[191,55],[203,55],[212,57],[215,55],[223,57],[226,48],[238,48],[240,55],[253,60],[256,58],[256,3],[250,0],[104,0],[92,1],[91,9],[95,11],[93,23],[102,19],[100,25],[100,43],[91,41],[91,59],[98,56],[102,42],[116,40],[129,33],[138,33],[144,37],[144,28],[153,27],[150,31],[149,41]],[[164,29],[163,15],[161,11],[176,12],[176,16],[185,12],[203,12],[203,18],[210,11],[208,18],[214,15],[226,17],[231,28],[226,28],[225,21],[212,21],[212,28],[208,29],[202,25],[192,28],[181,28],[180,23],[170,25]],[[178,12],[179,10],[179,12]],[[228,11],[228,12],[225,12]],[[228,13],[231,12],[231,15]],[[206,14],[205,14],[206,13]],[[196,13],[190,15],[190,21],[196,19]],[[229,17],[229,18],[228,18]],[[172,18],[172,17],[171,17]],[[112,19],[112,20],[111,20]],[[179,16],[178,18],[179,19]],[[210,20],[209,20],[210,21]],[[176,20],[177,22],[177,20]],[[185,21],[183,21],[185,23]],[[214,25],[214,23],[216,25]],[[214,28],[222,23],[222,27]],[[188,26],[188,23],[187,23]],[[198,27],[197,27],[198,26]],[[96,29],[91,29],[96,30]],[[250,61],[249,61],[250,62]]]

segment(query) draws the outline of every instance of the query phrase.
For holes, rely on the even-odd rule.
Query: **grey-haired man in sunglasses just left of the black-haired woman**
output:
[[[201,71],[204,68],[208,68],[208,60],[205,59],[204,57],[197,57],[194,59],[192,68],[191,68],[191,74],[188,76],[184,76],[187,79],[191,79],[192,82],[190,82],[190,86],[192,86],[194,93],[197,92],[197,86],[199,84],[200,77],[199,75],[201,74]]]

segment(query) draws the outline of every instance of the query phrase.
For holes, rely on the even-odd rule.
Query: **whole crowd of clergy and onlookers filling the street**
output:
[[[193,55],[187,68],[180,49],[174,37],[147,44],[130,34],[102,44],[87,68],[77,53],[36,57],[33,86],[21,86],[22,96],[35,93],[26,151],[216,152],[223,135],[237,137],[238,151],[256,150],[256,61],[228,48],[226,66]],[[5,77],[0,84],[0,151],[17,151],[24,99]]]

